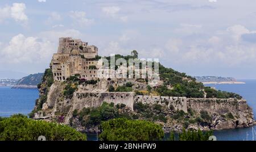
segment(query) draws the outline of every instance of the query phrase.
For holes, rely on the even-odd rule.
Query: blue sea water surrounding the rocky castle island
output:
[[[217,84],[206,85],[215,87],[218,90],[236,92],[247,100],[247,103],[254,111],[256,118],[256,80],[238,80],[245,84]],[[9,117],[16,113],[28,115],[35,106],[35,100],[39,92],[36,89],[18,89],[11,87],[0,87],[0,117]],[[254,127],[256,130],[256,127]],[[87,134],[88,140],[97,140],[96,134]],[[164,140],[168,139],[165,134]],[[219,141],[250,141],[252,140],[252,128],[218,130],[214,132]]]

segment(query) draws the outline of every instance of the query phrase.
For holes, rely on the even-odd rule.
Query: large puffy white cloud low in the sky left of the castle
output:
[[[9,44],[0,50],[0,62],[9,64],[45,63],[54,52],[55,49],[49,41],[19,34],[14,36]]]

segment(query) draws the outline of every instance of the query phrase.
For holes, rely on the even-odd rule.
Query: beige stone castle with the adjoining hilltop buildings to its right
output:
[[[138,60],[139,61],[139,60]],[[123,62],[123,61],[121,61]],[[143,64],[143,61],[139,61]],[[104,60],[98,56],[98,48],[94,45],[88,45],[80,39],[72,39],[72,37],[60,37],[57,53],[53,54],[51,61],[51,69],[55,81],[65,81],[71,76],[77,76],[85,81],[97,79],[115,79],[115,78],[131,78],[134,79],[138,70],[139,78],[143,74],[147,75],[147,79],[156,81],[156,73],[148,73],[151,67],[145,65],[145,68],[136,68],[135,65],[125,66],[120,64],[118,69],[109,69],[104,66]],[[109,64],[107,61],[106,64]],[[114,63],[115,64],[115,63]],[[126,75],[128,71],[131,74]],[[126,77],[124,76],[126,75]]]

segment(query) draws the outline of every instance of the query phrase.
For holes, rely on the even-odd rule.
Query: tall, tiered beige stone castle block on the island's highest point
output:
[[[97,54],[98,48],[94,45],[72,37],[61,37],[58,51],[53,54],[51,62],[55,81],[65,81],[75,74],[85,80],[96,79]]]

